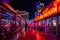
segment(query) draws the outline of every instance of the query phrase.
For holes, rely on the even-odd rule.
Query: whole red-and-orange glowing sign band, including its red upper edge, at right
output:
[[[56,0],[54,1],[52,4],[52,6],[50,7],[47,7],[43,12],[42,12],[42,15],[41,16],[37,16],[35,18],[35,21],[38,21],[38,20],[42,20],[46,17],[50,17],[50,16],[53,16],[53,15],[56,15],[58,13],[58,11],[60,12],[60,5],[58,6],[58,11],[57,11],[57,5],[58,3],[60,2],[60,0]],[[50,8],[50,9],[49,9]]]

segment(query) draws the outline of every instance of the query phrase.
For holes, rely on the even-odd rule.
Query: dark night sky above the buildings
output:
[[[44,3],[45,6],[47,6],[52,0],[40,0]],[[30,12],[30,19],[34,17],[34,11],[35,11],[35,3],[38,2],[38,0],[12,0],[10,4],[14,9],[18,10],[26,10]]]

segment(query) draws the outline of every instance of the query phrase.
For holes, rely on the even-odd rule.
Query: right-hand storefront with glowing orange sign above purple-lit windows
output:
[[[43,11],[41,16],[36,16],[35,21],[41,21],[46,19],[46,32],[59,35],[59,15],[60,15],[60,0],[54,0]]]

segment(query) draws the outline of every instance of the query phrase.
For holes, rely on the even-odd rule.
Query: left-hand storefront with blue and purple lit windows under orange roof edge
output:
[[[21,27],[25,27],[25,20],[8,3],[2,2],[0,4],[0,35],[3,33],[4,35],[0,36],[1,40],[17,38]]]

